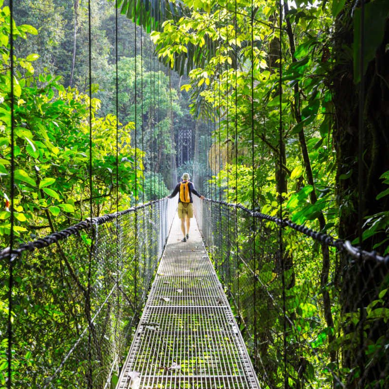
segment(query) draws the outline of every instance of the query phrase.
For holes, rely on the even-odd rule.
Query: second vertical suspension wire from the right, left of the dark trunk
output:
[[[282,169],[283,169],[283,85],[282,85],[282,79],[283,79],[283,0],[279,0],[279,26],[280,26],[280,66],[279,66],[279,92],[280,92],[280,105],[279,105],[279,112],[280,112],[280,128],[279,128],[279,142],[280,142],[280,158],[279,158],[279,164],[280,164],[280,179],[283,177]],[[279,194],[279,206],[280,206],[280,216],[279,218],[283,220],[283,194]],[[280,224],[279,228],[279,251],[280,251],[280,260],[281,260],[281,272],[282,272],[282,288],[283,288],[283,374],[284,374],[284,388],[289,387],[288,383],[288,376],[287,376],[287,354],[286,354],[286,294],[285,294],[285,261],[284,261],[284,255],[283,255],[283,225]]]

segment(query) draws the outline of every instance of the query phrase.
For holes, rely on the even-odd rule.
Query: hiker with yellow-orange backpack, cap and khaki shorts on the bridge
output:
[[[193,217],[193,199],[192,193],[201,199],[205,198],[200,195],[193,186],[193,183],[189,181],[189,173],[184,173],[181,177],[182,181],[178,182],[171,195],[167,198],[173,198],[179,192],[178,196],[178,218],[181,220],[181,231],[184,235],[181,242],[186,242],[189,239],[189,229],[191,227],[191,218]],[[186,221],[186,223],[185,223]],[[186,234],[185,234],[186,224]]]

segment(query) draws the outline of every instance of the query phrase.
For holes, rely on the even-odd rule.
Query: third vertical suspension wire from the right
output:
[[[254,212],[255,210],[255,148],[254,148],[254,4],[253,0],[251,0],[251,210]],[[254,272],[257,271],[257,256],[256,256],[256,220],[254,215],[252,216],[252,253],[254,259]],[[254,277],[254,289],[253,289],[253,305],[254,305],[254,360],[257,359],[257,284],[256,279]]]

